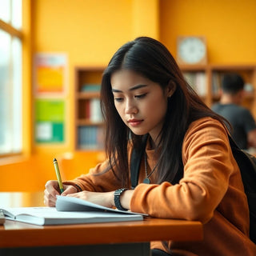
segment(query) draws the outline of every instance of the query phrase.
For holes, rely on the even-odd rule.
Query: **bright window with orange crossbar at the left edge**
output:
[[[0,156],[22,152],[22,0],[0,0]]]

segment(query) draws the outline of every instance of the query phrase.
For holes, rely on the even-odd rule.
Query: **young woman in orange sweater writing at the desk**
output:
[[[152,242],[152,255],[256,255],[226,122],[191,89],[161,42],[141,37],[123,45],[104,71],[101,102],[107,160],[63,182],[62,195],[204,224],[202,241]],[[145,135],[132,189],[130,155]],[[55,206],[57,194],[58,182],[46,182],[46,206]]]

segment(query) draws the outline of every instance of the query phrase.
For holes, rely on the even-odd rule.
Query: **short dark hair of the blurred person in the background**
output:
[[[235,73],[224,74],[222,77],[222,90],[226,94],[237,94],[245,85],[242,76]]]

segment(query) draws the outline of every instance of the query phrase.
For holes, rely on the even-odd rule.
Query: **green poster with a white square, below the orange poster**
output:
[[[36,142],[64,142],[65,102],[37,99],[35,102]]]

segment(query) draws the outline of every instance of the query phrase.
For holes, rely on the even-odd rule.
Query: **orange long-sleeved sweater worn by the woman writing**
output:
[[[149,145],[146,154],[152,169],[156,159]],[[182,144],[182,160],[184,176],[174,186],[169,182],[141,183],[145,178],[142,164],[130,209],[157,218],[198,220],[204,224],[204,238],[199,242],[151,242],[151,248],[171,250],[177,255],[256,255],[256,245],[248,238],[246,194],[222,124],[212,118],[191,123]],[[105,167],[103,162],[71,183],[92,191],[120,188],[111,171],[91,175]],[[154,174],[150,179],[154,182]]]

